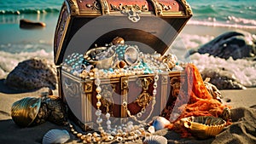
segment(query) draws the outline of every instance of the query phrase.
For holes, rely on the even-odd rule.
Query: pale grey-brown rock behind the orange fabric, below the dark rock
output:
[[[217,89],[246,89],[233,73],[224,69],[206,68],[201,72],[201,77],[203,79],[211,78],[209,83],[215,85]]]

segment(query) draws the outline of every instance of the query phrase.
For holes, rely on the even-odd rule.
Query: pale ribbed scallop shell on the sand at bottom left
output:
[[[70,139],[67,130],[49,130],[43,137],[43,144],[64,143]]]

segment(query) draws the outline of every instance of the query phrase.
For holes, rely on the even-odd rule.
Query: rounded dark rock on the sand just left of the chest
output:
[[[11,89],[36,90],[47,87],[56,89],[56,69],[48,60],[24,60],[15,67],[4,81]]]

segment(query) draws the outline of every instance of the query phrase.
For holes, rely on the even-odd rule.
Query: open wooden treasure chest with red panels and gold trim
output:
[[[100,22],[104,20],[110,22],[94,25],[96,27],[111,26],[112,31],[83,31],[85,25],[90,25],[91,21],[101,16],[103,17],[102,20],[99,20]],[[55,30],[54,52],[55,65],[58,66],[59,93],[63,101],[67,102],[67,106],[73,114],[71,117],[78,120],[84,130],[93,128],[96,124],[97,99],[94,78],[81,78],[78,74],[73,74],[72,70],[62,66],[68,55],[84,54],[87,50],[92,49],[95,43],[103,46],[105,43],[111,42],[114,37],[124,37],[125,41],[130,42],[129,44],[138,44],[139,49],[144,53],[152,52],[147,49],[150,47],[164,55],[166,49],[169,48],[191,16],[191,9],[184,0],[131,0],[125,2],[66,0],[61,8]],[[165,29],[166,23],[159,24],[158,21],[155,21],[158,19],[164,20],[172,26],[172,30],[175,32],[168,30],[168,27]],[[166,32],[166,30],[168,31]],[[79,48],[81,44],[77,43],[84,43],[85,49]],[[128,118],[127,110],[122,105],[125,100],[131,115],[137,115],[142,112],[143,107],[145,108],[145,112],[139,119],[150,119],[160,115],[166,107],[167,101],[175,100],[178,93],[178,87],[175,84],[178,85],[183,72],[160,72],[158,76],[154,107],[152,107],[151,98],[155,73],[101,78],[102,113],[108,111],[113,119],[127,120],[125,119]]]

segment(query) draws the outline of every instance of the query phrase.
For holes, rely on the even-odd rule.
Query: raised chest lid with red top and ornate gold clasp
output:
[[[55,29],[55,65],[114,37],[164,55],[191,16],[185,0],[65,0]]]

